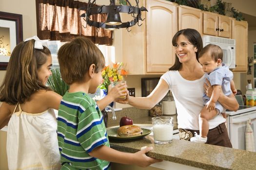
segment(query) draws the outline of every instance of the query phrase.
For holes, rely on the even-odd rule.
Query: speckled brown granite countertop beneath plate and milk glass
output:
[[[108,127],[117,126],[121,117],[131,117],[134,124],[151,124],[149,111],[134,107],[124,108],[116,112],[117,120],[109,119]],[[177,120],[177,119],[176,119]],[[173,139],[172,143],[159,145],[154,143],[152,135],[130,142],[110,140],[113,149],[135,153],[141,147],[152,146],[154,149],[148,156],[178,164],[197,167],[205,170],[256,170],[256,152],[232,148],[188,142]]]

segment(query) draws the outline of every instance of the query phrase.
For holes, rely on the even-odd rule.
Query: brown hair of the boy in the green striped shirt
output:
[[[88,38],[77,37],[61,46],[58,51],[61,77],[66,84],[83,82],[92,64],[95,72],[105,66],[105,59],[98,47]]]

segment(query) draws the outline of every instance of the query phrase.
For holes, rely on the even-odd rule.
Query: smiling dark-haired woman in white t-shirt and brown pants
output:
[[[194,29],[180,30],[174,35],[172,43],[176,53],[175,64],[161,76],[152,93],[142,98],[129,96],[127,100],[118,102],[150,109],[171,90],[176,103],[180,134],[185,133],[183,139],[189,140],[195,132],[199,133],[198,115],[203,108],[202,96],[205,91],[211,97],[212,87],[209,82],[204,84],[204,72],[197,60],[203,47],[200,34]],[[227,97],[221,93],[218,102],[229,110],[236,111],[239,107],[233,94]],[[221,114],[209,121],[207,144],[232,147],[225,121]]]

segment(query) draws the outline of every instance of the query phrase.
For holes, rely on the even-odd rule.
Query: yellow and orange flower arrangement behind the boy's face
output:
[[[123,63],[113,63],[113,67],[110,68],[110,66],[106,66],[101,71],[102,75],[102,83],[100,86],[100,89],[108,89],[108,86],[111,84],[111,82],[120,82],[123,80],[123,76],[127,75],[128,72],[121,68],[123,66]]]

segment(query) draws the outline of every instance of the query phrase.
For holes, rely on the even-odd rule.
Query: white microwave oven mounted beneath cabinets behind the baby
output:
[[[204,35],[202,36],[203,47],[208,44],[215,44],[223,51],[222,63],[225,63],[228,68],[236,68],[236,40],[230,38],[222,38],[217,36]]]

